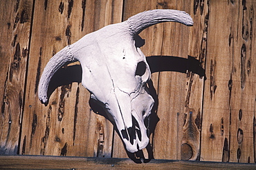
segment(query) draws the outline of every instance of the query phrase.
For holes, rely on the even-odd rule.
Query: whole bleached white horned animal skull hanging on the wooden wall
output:
[[[114,121],[127,151],[144,149],[149,136],[144,120],[154,99],[145,83],[151,72],[140,50],[138,34],[156,23],[174,21],[193,25],[189,14],[179,10],[149,10],[86,34],[64,47],[48,62],[39,82],[39,100],[48,103],[48,85],[55,72],[67,62],[80,61],[82,85]]]

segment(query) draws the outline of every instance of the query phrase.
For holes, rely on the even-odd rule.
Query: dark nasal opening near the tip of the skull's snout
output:
[[[134,116],[131,116],[132,118],[132,127],[129,127],[127,129],[122,129],[121,134],[122,138],[127,139],[131,145],[134,145],[134,140],[136,140],[136,137],[138,137],[138,140],[141,142],[141,132],[140,132],[140,126],[138,125],[138,122]]]

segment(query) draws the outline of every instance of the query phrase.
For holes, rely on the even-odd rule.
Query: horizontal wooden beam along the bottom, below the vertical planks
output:
[[[1,169],[255,169],[255,164],[152,160],[135,164],[125,158],[0,156]]]

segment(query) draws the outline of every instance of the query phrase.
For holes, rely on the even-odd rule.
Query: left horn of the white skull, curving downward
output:
[[[75,59],[73,58],[73,55],[71,55],[70,45],[68,45],[60,50],[60,52],[57,52],[57,54],[55,54],[47,63],[38,87],[38,97],[39,100],[44,103],[44,105],[47,105],[48,103],[48,85],[53,77],[53,74],[55,74],[55,72],[57,72],[62,65],[71,61],[75,61]]]

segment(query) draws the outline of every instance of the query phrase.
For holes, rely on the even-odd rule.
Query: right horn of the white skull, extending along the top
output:
[[[187,26],[193,25],[190,15],[180,10],[147,10],[140,12],[127,20],[133,34],[139,34],[145,28],[156,23],[178,22]]]

